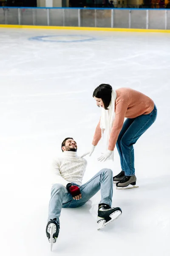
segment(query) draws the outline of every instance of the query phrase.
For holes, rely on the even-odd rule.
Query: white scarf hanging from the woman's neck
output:
[[[111,135],[111,129],[113,127],[113,121],[115,118],[115,100],[117,97],[116,91],[112,90],[111,103],[108,106],[108,110],[102,108],[102,114],[100,119],[100,128],[102,130],[102,139],[105,145],[105,149],[108,150],[109,139]],[[108,160],[114,160],[114,151]]]

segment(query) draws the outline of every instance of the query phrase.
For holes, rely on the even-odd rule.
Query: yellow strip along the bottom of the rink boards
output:
[[[93,30],[93,31],[122,31],[122,32],[159,32],[170,33],[170,29],[122,29],[122,28],[95,28],[95,27],[71,27],[71,26],[29,26],[29,25],[1,25],[0,28],[20,29],[70,29],[70,30]]]

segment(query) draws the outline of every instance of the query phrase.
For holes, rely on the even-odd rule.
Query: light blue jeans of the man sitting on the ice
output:
[[[77,184],[73,184],[78,186]],[[111,207],[113,195],[113,172],[111,169],[102,169],[91,180],[79,186],[82,198],[74,200],[68,190],[59,183],[56,183],[51,188],[51,200],[48,210],[48,221],[57,218],[62,208],[75,208],[85,204],[99,189],[101,189],[101,201],[99,204],[108,204]]]

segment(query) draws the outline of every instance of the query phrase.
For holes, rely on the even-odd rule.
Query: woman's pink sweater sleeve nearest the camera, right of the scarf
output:
[[[127,111],[127,102],[125,101],[120,101],[117,105],[116,105],[116,109],[115,109],[115,119],[113,122],[113,127],[111,129],[111,136],[109,139],[109,145],[108,145],[108,150],[113,151],[119,136],[119,133],[122,129],[123,126],[123,122],[125,119],[125,114]]]

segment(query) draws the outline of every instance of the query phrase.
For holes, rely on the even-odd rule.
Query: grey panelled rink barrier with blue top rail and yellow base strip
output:
[[[0,7],[0,27],[169,32],[170,9]]]

